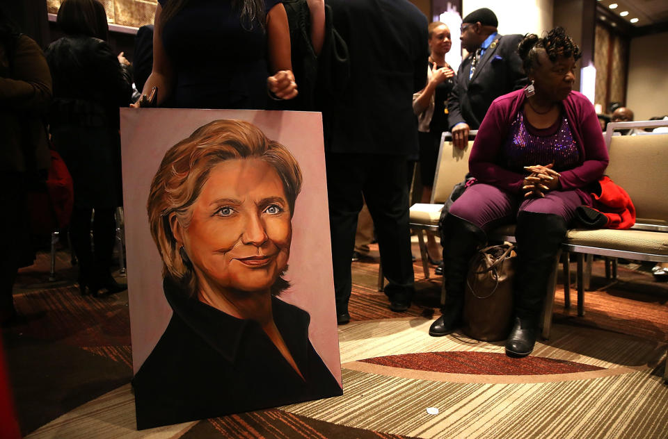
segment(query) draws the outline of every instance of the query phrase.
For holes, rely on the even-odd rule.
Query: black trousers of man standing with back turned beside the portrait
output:
[[[326,165],[337,311],[347,310],[351,294],[351,258],[363,199],[374,220],[388,279],[385,294],[390,300],[411,301],[414,275],[406,157],[327,153]]]

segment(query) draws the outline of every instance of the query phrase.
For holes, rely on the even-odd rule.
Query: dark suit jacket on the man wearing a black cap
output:
[[[496,44],[487,48],[470,80],[472,53],[462,60],[447,106],[451,129],[460,122],[466,122],[470,129],[478,129],[494,99],[527,84],[517,53],[522,38],[522,35],[497,35]]]

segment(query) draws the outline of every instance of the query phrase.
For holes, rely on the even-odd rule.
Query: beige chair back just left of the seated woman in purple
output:
[[[455,148],[452,140],[442,142],[438,151],[431,204],[445,204],[454,185],[463,181],[468,172],[468,156],[472,147],[473,140],[470,140],[463,150]]]

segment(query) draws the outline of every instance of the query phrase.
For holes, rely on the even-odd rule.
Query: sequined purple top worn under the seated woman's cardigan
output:
[[[525,174],[525,166],[554,162],[553,169],[561,172],[579,163],[580,150],[563,113],[550,128],[536,129],[518,111],[509,134],[501,150],[501,163],[509,170]]]

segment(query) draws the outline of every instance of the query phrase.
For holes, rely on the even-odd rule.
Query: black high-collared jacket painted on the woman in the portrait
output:
[[[259,324],[188,299],[173,281],[164,285],[174,314],[132,379],[138,429],[342,395],[308,339],[306,311],[272,298],[301,379]]]

